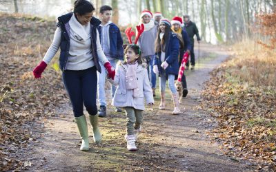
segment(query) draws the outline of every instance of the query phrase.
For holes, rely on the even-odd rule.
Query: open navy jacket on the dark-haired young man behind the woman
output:
[[[97,29],[99,30],[99,38],[101,40],[101,26],[99,25]],[[109,25],[109,53],[111,58],[117,58],[124,61],[124,48],[123,39],[121,38],[121,32],[117,25],[110,23]]]

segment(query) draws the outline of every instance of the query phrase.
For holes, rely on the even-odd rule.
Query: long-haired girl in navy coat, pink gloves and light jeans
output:
[[[170,87],[173,104],[175,106],[172,114],[180,114],[178,94],[174,82],[179,70],[179,39],[175,33],[172,33],[170,26],[168,19],[160,20],[157,39],[155,41],[157,56],[155,56],[153,71],[159,74],[160,77],[161,103],[159,109],[165,109],[165,89],[168,78],[168,86]]]

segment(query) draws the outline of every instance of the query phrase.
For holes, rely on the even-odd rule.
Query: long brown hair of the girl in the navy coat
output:
[[[166,52],[166,41],[169,39],[168,35],[170,34],[170,26],[165,23],[165,32],[162,40],[160,39],[161,29],[159,27],[157,32],[157,38],[155,39],[155,52]]]

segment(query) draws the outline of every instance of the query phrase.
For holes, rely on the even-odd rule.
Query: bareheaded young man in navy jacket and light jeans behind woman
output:
[[[110,61],[110,64],[114,69],[118,60],[124,60],[124,48],[123,39],[121,38],[121,32],[117,25],[110,21],[112,8],[110,6],[101,6],[99,13],[101,17],[101,25],[99,25],[99,37],[101,41],[101,48],[103,53]],[[104,69],[102,67],[102,69]],[[106,116],[106,71],[102,70],[98,72],[98,100],[99,100],[99,117]],[[116,87],[111,86],[112,98],[115,94]],[[121,112],[119,107],[115,107],[115,111]]]

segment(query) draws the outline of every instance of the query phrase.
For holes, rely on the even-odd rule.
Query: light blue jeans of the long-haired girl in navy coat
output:
[[[167,76],[168,76],[168,87],[170,88],[170,92],[172,94],[176,94],[177,89],[175,88],[175,75],[174,74],[166,75],[166,72],[164,70],[162,71],[162,74],[160,74],[160,80],[159,80],[160,92],[165,92],[166,90]]]

